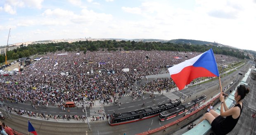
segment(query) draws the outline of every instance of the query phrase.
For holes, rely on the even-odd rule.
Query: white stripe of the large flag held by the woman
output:
[[[183,68],[193,65],[203,54],[200,54],[199,56],[195,56],[194,58],[191,58],[187,61],[183,61],[182,63],[179,63],[177,65],[174,65],[173,67],[168,68],[170,75],[177,74],[181,70],[183,70]]]

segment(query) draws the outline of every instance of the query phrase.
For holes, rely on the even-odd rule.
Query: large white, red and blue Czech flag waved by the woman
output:
[[[219,76],[212,49],[178,65],[174,65],[173,67],[168,68],[168,70],[171,78],[180,90],[198,77]]]

